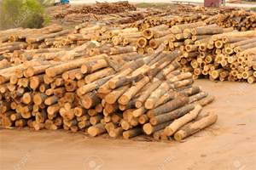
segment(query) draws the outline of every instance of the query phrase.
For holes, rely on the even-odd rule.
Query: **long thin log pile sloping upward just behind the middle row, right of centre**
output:
[[[228,16],[232,12],[241,10],[241,8],[218,8],[217,10],[207,10],[204,7],[189,7],[189,8],[167,8],[161,11],[159,14],[148,15],[144,14],[144,20],[138,20],[137,22],[128,24],[126,27],[137,27],[143,31],[153,26],[160,26],[165,24],[172,27],[176,25],[189,24],[208,20],[207,24],[211,25],[216,22],[218,14],[225,14]],[[212,16],[212,17],[210,17]],[[124,23],[125,24],[125,23]],[[116,25],[119,27],[119,25]]]

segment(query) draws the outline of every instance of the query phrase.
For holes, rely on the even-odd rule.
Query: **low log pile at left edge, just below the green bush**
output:
[[[0,32],[0,54],[21,49],[57,48],[62,37],[70,31],[63,26],[52,25],[41,29],[18,29]],[[65,46],[63,48],[70,48]]]

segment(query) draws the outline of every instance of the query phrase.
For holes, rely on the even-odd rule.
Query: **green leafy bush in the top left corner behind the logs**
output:
[[[0,4],[0,18],[3,18],[0,30],[15,27],[41,28],[47,25],[49,17],[44,14],[44,3],[49,1],[51,0],[4,0]]]

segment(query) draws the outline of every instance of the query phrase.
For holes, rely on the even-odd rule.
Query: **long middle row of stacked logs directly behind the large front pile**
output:
[[[242,12],[239,12],[241,14]],[[253,16],[252,16],[253,17]],[[212,23],[212,17],[195,23],[154,26],[139,31],[125,25],[109,27],[89,26],[83,23],[72,33],[63,31],[62,26],[48,26],[39,30],[4,31],[0,40],[0,65],[20,65],[30,59],[38,59],[37,53],[59,51],[61,55],[85,42],[95,41],[100,48],[90,48],[84,54],[102,54],[105,48],[132,46],[138,54],[153,54],[164,43],[166,51],[180,49],[183,53],[177,60],[184,72],[193,77],[210,80],[255,82],[255,31],[236,32],[233,27],[222,28]],[[7,42],[8,41],[8,42]],[[24,42],[26,41],[26,42]],[[32,54],[20,55],[22,48],[34,49]],[[41,48],[40,50],[36,48]],[[17,51],[15,51],[17,50]],[[15,51],[14,54],[10,54]],[[1,79],[0,79],[1,82]]]

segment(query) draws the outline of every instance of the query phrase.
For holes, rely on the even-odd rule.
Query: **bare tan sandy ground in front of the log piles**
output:
[[[1,129],[0,168],[255,170],[256,85],[209,80],[195,84],[216,97],[202,113],[216,111],[218,121],[183,143]]]

